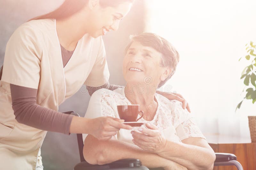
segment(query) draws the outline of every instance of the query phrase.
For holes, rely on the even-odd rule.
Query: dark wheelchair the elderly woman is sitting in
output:
[[[64,112],[80,117],[74,111]],[[82,134],[77,134],[78,150],[80,155],[80,163],[76,164],[74,170],[149,170],[146,166],[142,166],[139,159],[120,159],[104,165],[92,165],[86,162],[83,155],[84,141]],[[216,159],[214,166],[236,166],[237,170],[243,170],[243,166],[237,161],[236,155],[231,153],[215,153]],[[151,168],[151,170],[161,170],[163,168]]]

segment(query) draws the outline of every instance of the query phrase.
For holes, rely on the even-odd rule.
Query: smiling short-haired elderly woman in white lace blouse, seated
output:
[[[117,105],[139,104],[144,115],[138,122],[147,124],[132,130],[121,129],[106,141],[84,134],[87,162],[101,165],[136,158],[149,168],[213,168],[215,153],[192,114],[182,109],[182,103],[156,93],[172,77],[178,61],[179,53],[166,39],[153,33],[132,38],[123,61],[126,86],[93,93],[85,117],[119,118]]]

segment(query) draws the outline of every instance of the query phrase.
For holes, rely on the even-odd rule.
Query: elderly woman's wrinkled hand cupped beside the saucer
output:
[[[131,131],[133,137],[133,143],[139,146],[141,149],[159,153],[166,144],[166,139],[161,131],[154,124],[146,124],[146,127],[140,127],[139,131]]]

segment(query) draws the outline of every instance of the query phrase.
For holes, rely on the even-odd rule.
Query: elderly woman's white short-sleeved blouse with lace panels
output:
[[[182,103],[176,100],[168,100],[162,95],[155,95],[158,107],[156,115],[152,121],[146,121],[141,118],[138,122],[148,122],[154,124],[159,130],[163,131],[167,140],[181,142],[181,140],[189,137],[204,138],[204,135],[199,130],[193,119],[193,114],[187,109],[182,108]],[[88,109],[84,117],[117,117],[117,105],[130,105],[130,101],[125,97],[124,88],[119,88],[114,91],[108,89],[100,89],[92,94]],[[138,118],[140,115],[138,115]],[[142,125],[143,126],[143,125]],[[121,129],[115,135],[117,140],[132,143],[131,131],[136,131],[139,127],[133,127],[132,130]],[[83,140],[87,134],[83,134]]]

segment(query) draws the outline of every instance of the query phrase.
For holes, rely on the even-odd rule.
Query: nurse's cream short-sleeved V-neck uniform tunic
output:
[[[9,39],[0,81],[0,169],[34,170],[42,165],[40,147],[47,131],[16,121],[10,84],[38,89],[37,104],[58,110],[83,85],[108,82],[105,48],[88,34],[63,68],[55,19],[32,20]]]

